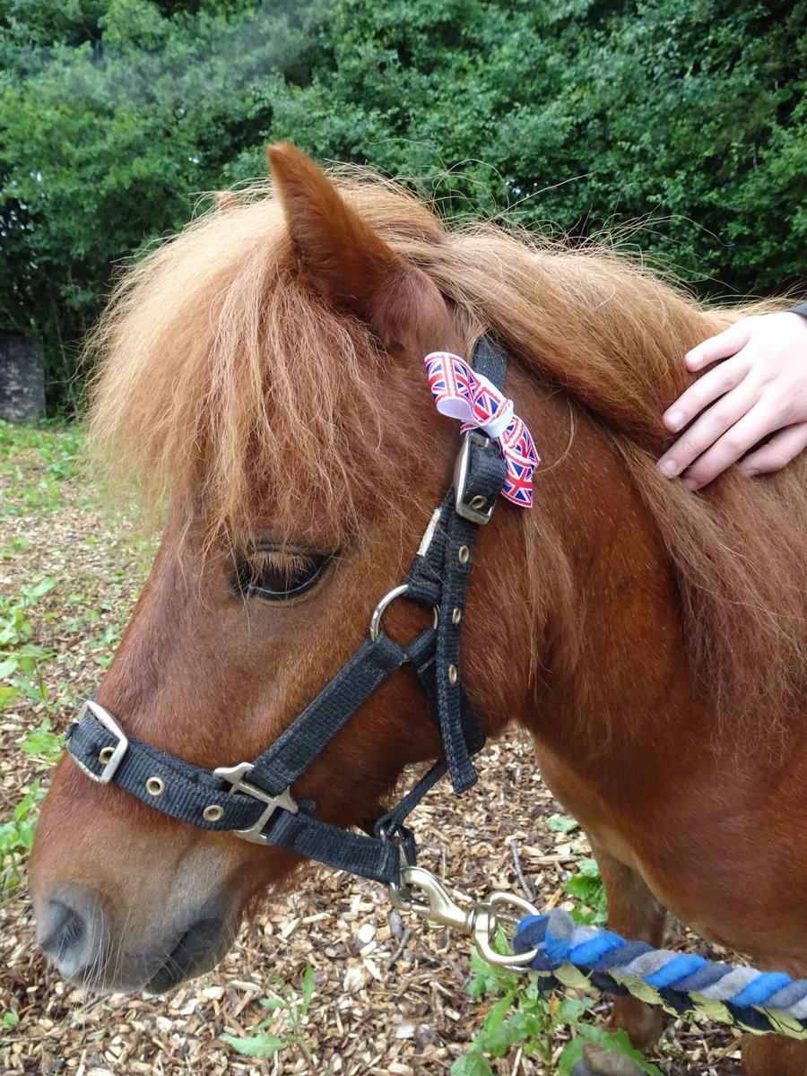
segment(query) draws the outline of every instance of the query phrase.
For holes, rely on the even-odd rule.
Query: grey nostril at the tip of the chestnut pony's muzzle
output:
[[[107,925],[100,905],[71,887],[47,901],[39,916],[37,938],[66,978],[98,971],[107,951]]]

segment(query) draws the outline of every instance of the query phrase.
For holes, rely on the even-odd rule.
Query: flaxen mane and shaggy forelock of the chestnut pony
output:
[[[692,380],[681,356],[748,308],[707,312],[612,251],[491,225],[449,230],[388,181],[329,174],[454,303],[467,353],[495,331],[607,430],[666,543],[693,666],[719,713],[763,730],[797,713],[804,461],[753,481],[730,472],[697,495],[654,468],[670,440],[661,414]],[[123,278],[89,345],[90,443],[113,487],[133,486],[152,510],[170,498],[179,518],[201,502],[210,533],[231,544],[249,532],[258,478],[281,515],[310,490],[343,538],[357,533],[367,498],[396,510],[384,459],[406,462],[413,449],[384,424],[377,343],[293,267],[280,204],[258,185]],[[416,404],[422,379],[409,382],[399,388]]]

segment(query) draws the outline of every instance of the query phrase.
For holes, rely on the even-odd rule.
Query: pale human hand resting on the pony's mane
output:
[[[683,484],[699,490],[738,459],[744,475],[761,475],[807,447],[807,317],[745,317],[693,348],[684,362],[693,372],[717,365],[664,413],[671,433],[692,425],[656,464],[662,475],[686,471]]]

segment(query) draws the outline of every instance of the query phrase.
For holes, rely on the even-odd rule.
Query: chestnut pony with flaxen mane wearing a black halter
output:
[[[609,253],[448,231],[287,145],[270,162],[272,189],[136,266],[98,329],[96,447],[168,506],[99,705],[204,767],[265,751],[362,645],[451,483],[458,427],[423,357],[469,358],[491,331],[543,463],[532,510],[500,502],[473,554],[462,670],[484,731],[535,737],[615,931],[660,945],[663,906],[805,975],[807,456],[698,494],[654,468],[681,355],[733,315]],[[392,638],[423,626],[407,600],[384,617]],[[292,791],[349,826],[440,751],[405,667]],[[218,960],[297,863],[66,758],[31,864],[40,939],[75,982],[167,987]],[[614,1018],[639,1044],[660,1030],[632,999]],[[754,1038],[747,1072],[804,1076],[805,1049]]]

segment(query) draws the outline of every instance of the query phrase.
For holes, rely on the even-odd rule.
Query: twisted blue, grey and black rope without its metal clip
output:
[[[538,950],[528,966],[539,974],[540,989],[551,990],[560,981],[580,985],[564,979],[571,965],[605,993],[634,994],[676,1013],[706,1013],[749,1031],[807,1036],[807,979],[791,979],[783,972],[711,963],[694,953],[626,942],[611,931],[577,926],[561,908],[522,920],[513,949]]]

